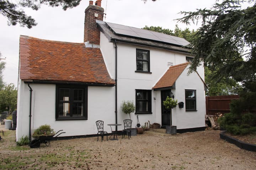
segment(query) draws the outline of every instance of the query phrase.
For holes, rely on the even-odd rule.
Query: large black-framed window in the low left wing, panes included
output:
[[[87,119],[87,86],[56,85],[56,120]]]

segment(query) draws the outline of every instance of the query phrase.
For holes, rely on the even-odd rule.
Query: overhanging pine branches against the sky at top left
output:
[[[51,7],[62,6],[63,10],[78,6],[81,0],[20,0],[17,4],[9,0],[0,1],[0,14],[8,19],[8,25],[20,24],[21,27],[26,26],[32,28],[36,26],[36,21],[27,16],[21,7],[30,7],[33,10],[38,10],[41,4],[46,4]]]

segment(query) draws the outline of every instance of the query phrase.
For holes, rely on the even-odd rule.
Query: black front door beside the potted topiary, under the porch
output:
[[[166,100],[167,96],[172,97],[171,90],[162,90],[161,91],[162,128],[165,128],[165,126],[171,125],[171,109],[166,109],[163,105],[163,101]]]

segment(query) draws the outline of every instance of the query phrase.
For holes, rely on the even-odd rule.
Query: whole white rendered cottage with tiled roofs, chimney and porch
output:
[[[120,123],[123,100],[136,105],[141,124],[177,126],[177,132],[204,129],[204,68],[187,74],[193,58],[183,38],[103,22],[101,0],[85,10],[84,42],[20,36],[17,140],[49,124],[62,136],[97,134],[95,122]],[[172,96],[184,107],[162,106]],[[119,126],[118,130],[122,130]]]

